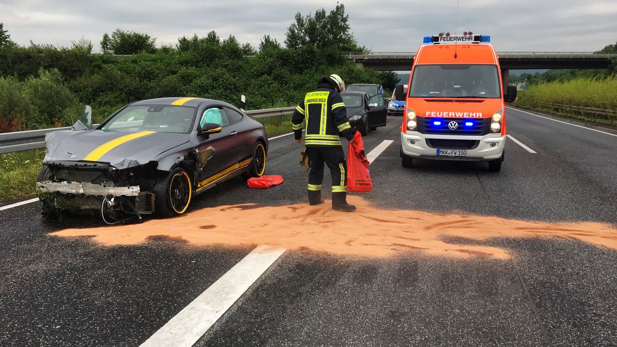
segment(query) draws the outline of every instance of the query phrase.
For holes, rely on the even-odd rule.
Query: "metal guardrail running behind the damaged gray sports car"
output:
[[[278,109],[251,110],[244,113],[257,119],[267,117],[281,117],[292,114],[296,107],[280,107]],[[96,127],[98,124],[94,124]],[[45,135],[58,130],[70,130],[71,127],[49,128],[39,130],[28,130],[26,132],[0,133],[0,154],[29,149],[45,148]]]

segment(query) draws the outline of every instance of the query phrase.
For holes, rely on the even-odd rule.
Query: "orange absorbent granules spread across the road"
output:
[[[164,236],[193,245],[271,245],[370,257],[410,250],[452,257],[509,257],[506,249],[498,247],[449,243],[446,240],[451,236],[473,240],[554,236],[617,249],[617,229],[607,224],[384,210],[357,196],[348,199],[358,207],[357,212],[333,211],[328,201],[319,206],[220,206],[143,224],[67,229],[51,235],[91,236],[103,245],[135,245]]]

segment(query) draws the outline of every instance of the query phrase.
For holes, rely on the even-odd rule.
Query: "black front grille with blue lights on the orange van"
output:
[[[418,132],[432,135],[486,135],[491,132],[491,118],[428,118],[418,117]],[[438,120],[441,125],[433,125],[433,122]],[[448,123],[457,122],[456,130],[450,130]],[[471,127],[465,125],[466,122],[472,122]]]

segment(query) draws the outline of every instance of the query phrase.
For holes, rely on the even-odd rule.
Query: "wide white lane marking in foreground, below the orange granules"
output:
[[[193,346],[284,249],[259,246],[146,340],[146,346]]]

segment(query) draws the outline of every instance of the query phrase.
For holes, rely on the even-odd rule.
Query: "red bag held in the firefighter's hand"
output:
[[[349,157],[347,158],[347,190],[357,193],[368,193],[373,190],[373,181],[368,172],[368,159],[362,154],[362,136],[355,133],[354,141],[349,143]]]

